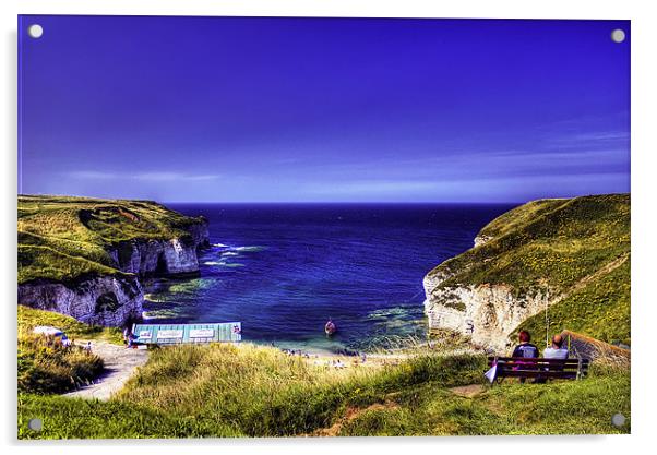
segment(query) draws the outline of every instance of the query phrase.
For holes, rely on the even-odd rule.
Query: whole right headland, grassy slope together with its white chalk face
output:
[[[504,349],[518,325],[630,343],[630,195],[541,200],[486,226],[425,278],[433,327]]]

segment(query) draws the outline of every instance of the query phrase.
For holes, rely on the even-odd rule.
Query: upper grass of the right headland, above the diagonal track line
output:
[[[486,244],[445,261],[435,272],[453,276],[441,287],[461,284],[506,284],[527,291],[550,286],[556,291],[575,284],[630,251],[628,194],[543,201],[500,218],[482,232],[499,232]],[[534,216],[537,214],[540,216]],[[530,216],[528,216],[530,215]]]

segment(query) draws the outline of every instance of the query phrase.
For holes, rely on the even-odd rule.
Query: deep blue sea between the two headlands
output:
[[[148,322],[242,322],[244,340],[311,352],[423,336],[422,278],[509,204],[167,204],[210,220],[191,279],[147,285]],[[338,332],[331,338],[324,323]]]

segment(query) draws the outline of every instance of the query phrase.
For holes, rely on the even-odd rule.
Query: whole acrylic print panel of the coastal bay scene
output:
[[[19,36],[21,439],[630,432],[628,21]]]

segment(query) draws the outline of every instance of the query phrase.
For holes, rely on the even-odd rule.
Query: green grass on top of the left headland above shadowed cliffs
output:
[[[132,239],[188,239],[190,218],[150,201],[19,196],[19,284],[119,273],[107,250]]]

